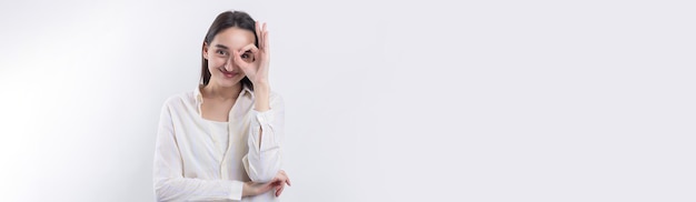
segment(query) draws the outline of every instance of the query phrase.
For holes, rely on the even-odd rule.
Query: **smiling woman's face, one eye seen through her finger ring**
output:
[[[203,58],[208,60],[208,71],[210,71],[210,83],[220,87],[233,87],[245,78],[238,64],[232,59],[232,51],[255,42],[253,32],[237,27],[227,28],[210,41],[203,44]],[[253,54],[245,52],[241,59],[251,62]]]

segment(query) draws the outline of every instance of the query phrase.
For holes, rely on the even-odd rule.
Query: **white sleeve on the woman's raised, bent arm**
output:
[[[270,95],[270,109],[251,110],[249,152],[242,163],[253,182],[268,182],[281,166],[281,144],[285,135],[285,104],[278,94]],[[260,144],[260,148],[259,148]]]

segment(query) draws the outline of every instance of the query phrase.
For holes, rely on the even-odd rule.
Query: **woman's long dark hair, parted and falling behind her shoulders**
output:
[[[256,21],[243,11],[226,11],[218,14],[218,17],[215,18],[215,21],[212,21],[212,24],[210,24],[210,28],[208,28],[208,33],[206,33],[203,44],[210,46],[210,42],[212,41],[215,36],[217,36],[220,31],[232,27],[251,31],[253,33],[253,44],[256,47],[259,47],[259,37],[256,36]],[[208,85],[208,83],[210,82],[210,71],[208,70],[208,60],[203,57],[202,52],[200,57],[202,60],[200,67],[200,81],[201,84],[205,87]],[[240,82],[242,85],[246,85],[249,89],[253,90],[253,85],[249,78],[245,77],[243,79],[241,79]]]

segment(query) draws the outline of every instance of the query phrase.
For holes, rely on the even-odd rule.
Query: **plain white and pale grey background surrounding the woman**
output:
[[[153,201],[213,18],[267,21],[284,201],[695,201],[689,1],[3,1],[0,201]]]

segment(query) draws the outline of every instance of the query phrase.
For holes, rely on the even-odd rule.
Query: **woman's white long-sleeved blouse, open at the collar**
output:
[[[169,98],[155,148],[157,201],[279,201],[275,190],[241,198],[243,182],[268,182],[281,169],[285,107],[279,94],[269,99],[270,110],[256,111],[253,92],[243,88],[223,125],[228,134],[220,134],[201,117],[200,88]]]

